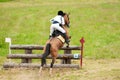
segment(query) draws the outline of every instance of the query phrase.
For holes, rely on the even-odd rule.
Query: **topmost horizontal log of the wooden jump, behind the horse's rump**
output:
[[[34,49],[34,50],[43,50],[44,46],[41,45],[11,45],[10,49]],[[70,47],[62,47],[60,50],[81,50],[79,46],[70,46]]]

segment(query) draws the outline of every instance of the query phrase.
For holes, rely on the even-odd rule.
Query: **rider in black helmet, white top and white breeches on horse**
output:
[[[51,26],[50,26],[50,37],[52,37],[52,34],[54,32],[54,30],[58,30],[60,32],[63,33],[63,37],[65,38],[65,42],[68,44],[69,41],[67,40],[66,37],[66,31],[63,29],[63,26],[65,25],[65,21],[64,21],[64,13],[63,11],[58,11],[57,16],[55,16],[54,18],[52,18],[51,21]]]

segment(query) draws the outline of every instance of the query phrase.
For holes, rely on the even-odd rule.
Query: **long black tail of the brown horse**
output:
[[[42,56],[41,66],[43,66],[44,64],[46,64],[46,57],[50,54],[50,47],[51,47],[51,44],[48,43],[46,45],[45,52],[44,52],[44,54]]]

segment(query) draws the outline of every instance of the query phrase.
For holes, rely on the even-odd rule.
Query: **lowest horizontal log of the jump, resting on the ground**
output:
[[[33,63],[5,63],[3,65],[4,68],[40,68],[40,64],[33,64]],[[45,65],[44,68],[49,68],[50,65]],[[77,64],[54,64],[53,68],[77,68],[79,69],[79,65]]]

